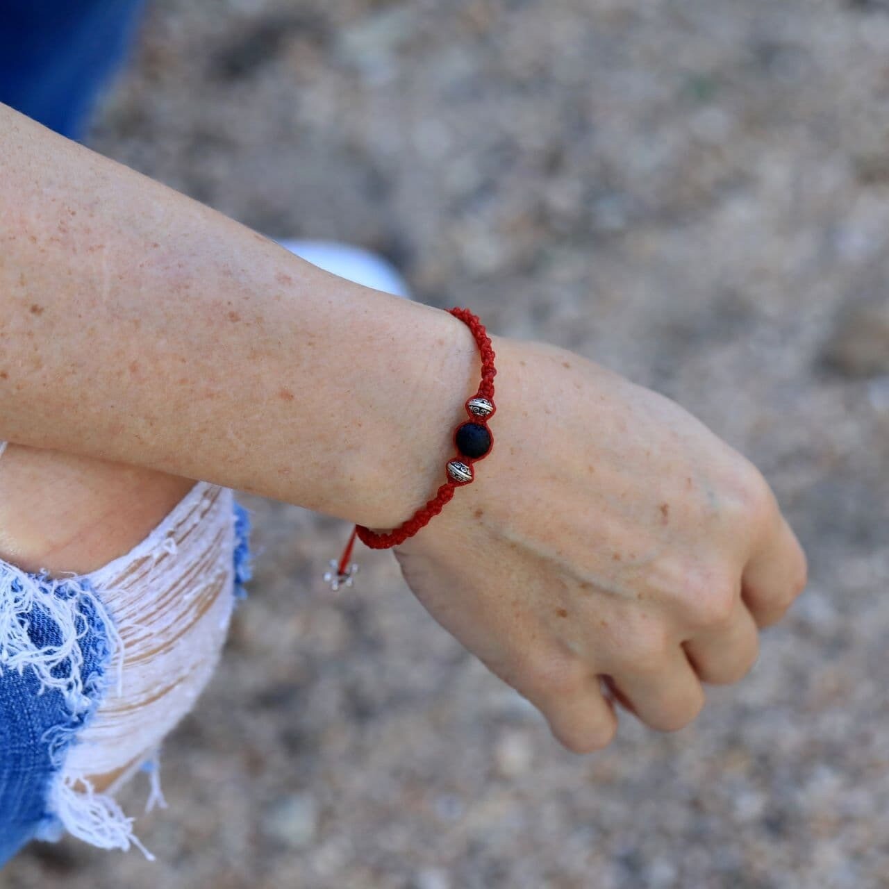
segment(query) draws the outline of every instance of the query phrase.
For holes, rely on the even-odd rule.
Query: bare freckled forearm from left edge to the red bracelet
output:
[[[460,321],[4,106],[0,158],[0,437],[380,528],[444,481],[478,372]]]

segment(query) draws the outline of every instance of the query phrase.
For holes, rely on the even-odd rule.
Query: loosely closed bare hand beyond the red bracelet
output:
[[[702,682],[755,663],[805,587],[803,550],[757,469],[677,404],[565,349],[492,342],[493,450],[394,549],[404,579],[566,748],[613,739],[598,677],[682,728]]]

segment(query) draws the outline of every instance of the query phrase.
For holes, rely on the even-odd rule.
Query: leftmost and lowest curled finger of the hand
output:
[[[578,665],[555,680],[539,675],[515,687],[546,717],[557,741],[573,753],[591,753],[613,741],[617,715],[591,670]]]

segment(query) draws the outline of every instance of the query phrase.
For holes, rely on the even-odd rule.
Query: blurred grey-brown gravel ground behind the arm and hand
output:
[[[157,863],[66,839],[4,889],[889,886],[889,3],[152,0],[86,142],[677,399],[812,580],[693,725],[621,711],[578,757],[390,553],[332,593],[350,527],[243,496],[255,579],[136,821]]]

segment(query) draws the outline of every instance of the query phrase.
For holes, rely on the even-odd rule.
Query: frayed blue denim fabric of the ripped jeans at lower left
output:
[[[252,575],[250,518],[232,503],[229,594],[240,599]],[[96,574],[53,580],[0,559],[0,867],[28,840],[62,834],[53,781],[119,678],[111,669],[117,628]],[[91,825],[105,827],[101,818]]]

